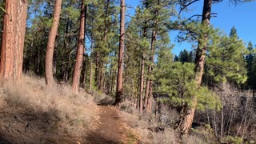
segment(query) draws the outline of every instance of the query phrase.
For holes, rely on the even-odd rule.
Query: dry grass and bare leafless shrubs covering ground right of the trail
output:
[[[187,137],[179,135],[176,129],[179,114],[168,104],[158,103],[156,115],[149,115],[139,114],[135,107],[126,102],[122,109],[130,114],[123,112],[122,117],[142,135],[143,143],[254,143],[256,101],[252,93],[228,84],[218,86],[214,91],[222,101],[222,108],[197,110]]]

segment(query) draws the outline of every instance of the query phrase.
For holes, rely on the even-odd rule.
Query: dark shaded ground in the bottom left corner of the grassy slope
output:
[[[74,143],[61,128],[58,110],[40,111],[29,106],[0,110],[0,143]]]

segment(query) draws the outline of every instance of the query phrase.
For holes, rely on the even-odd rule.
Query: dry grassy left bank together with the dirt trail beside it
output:
[[[25,76],[0,88],[0,143],[141,143],[120,110],[96,104],[108,99]]]

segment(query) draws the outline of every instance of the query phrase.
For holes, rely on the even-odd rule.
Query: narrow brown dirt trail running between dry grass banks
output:
[[[98,128],[88,134],[88,143],[140,143],[138,136],[126,126],[114,106],[99,106],[99,112]]]

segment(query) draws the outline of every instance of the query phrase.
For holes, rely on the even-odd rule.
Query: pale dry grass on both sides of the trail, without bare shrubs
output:
[[[44,79],[26,75],[20,84],[6,85],[0,89],[0,143],[86,142],[86,134],[96,130],[99,122],[95,102],[113,102],[106,94],[90,94],[75,93],[66,85],[47,87]],[[166,126],[167,121],[159,122],[153,115],[127,107],[132,114],[119,114],[130,128],[130,138],[136,136],[142,143],[207,143],[196,134],[181,140],[170,127],[156,132],[154,127]],[[162,112],[170,118],[168,122],[177,116],[170,110]]]

